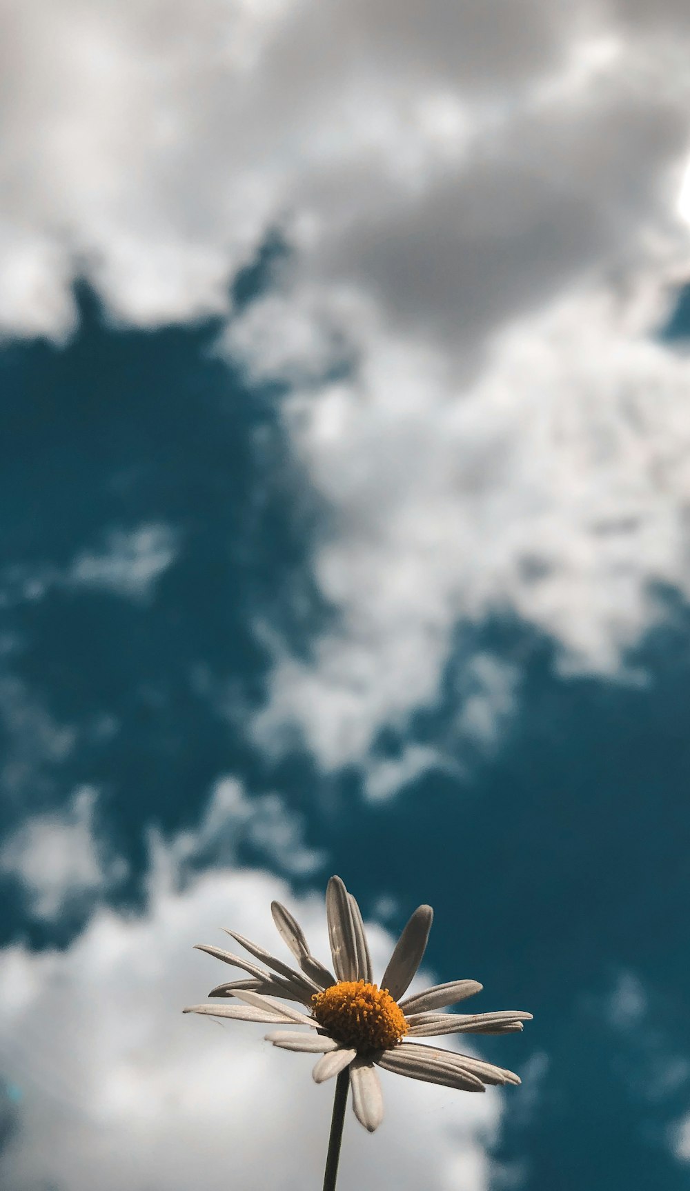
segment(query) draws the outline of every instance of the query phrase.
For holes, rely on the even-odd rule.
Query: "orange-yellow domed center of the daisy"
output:
[[[408,1033],[405,1015],[387,989],[365,980],[341,980],[315,992],[312,1014],[343,1046],[360,1053],[385,1050]]]

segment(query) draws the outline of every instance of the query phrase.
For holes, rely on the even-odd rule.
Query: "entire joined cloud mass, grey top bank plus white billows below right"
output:
[[[276,656],[257,738],[375,769],[378,729],[436,698],[455,626],[492,611],[616,672],[653,585],[690,586],[688,364],[649,338],[690,260],[683,6],[23,0],[0,20],[8,331],[67,333],[76,272],[124,320],[223,311],[272,230],[293,248],[225,344],[294,388],[341,618],[310,666]],[[480,721],[460,692],[458,738],[485,747],[518,682],[489,678]]]

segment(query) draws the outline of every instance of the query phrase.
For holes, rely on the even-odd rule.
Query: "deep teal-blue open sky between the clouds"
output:
[[[669,337],[689,322],[683,294]],[[535,1052],[548,1059],[534,1114],[520,1093],[506,1112],[498,1156],[524,1162],[523,1186],[680,1191],[688,1170],[666,1129],[690,1109],[690,1081],[680,1073],[669,1086],[664,1071],[690,1062],[688,609],[660,593],[666,621],[629,659],[642,685],[559,675],[552,643],[517,622],[477,630],[520,665],[523,686],[496,753],[478,755],[464,781],[425,775],[372,805],[355,767],[323,778],[298,748],[271,761],[247,732],[271,668],[255,625],[309,656],[335,616],[310,566],[325,511],[291,457],[280,394],[249,391],[216,356],[217,335],[215,324],[119,330],[85,293],[69,345],[0,355],[5,590],[64,569],[113,529],[164,523],[178,535],[150,601],[67,585],[8,600],[7,666],[56,723],[75,725],[77,747],[37,757],[7,791],[4,830],[93,784],[104,829],[132,865],[118,896],[136,900],[150,823],[195,825],[220,774],[251,797],[279,790],[329,856],[309,880],[321,888],[340,872],[365,910],[381,894],[403,915],[430,902],[440,978],[480,979],[478,1009],[534,1011],[524,1035],[483,1041],[517,1071]],[[459,629],[437,705],[404,738],[383,734],[381,754],[410,741],[448,747],[452,676],[467,650]],[[119,729],[99,734],[107,717]],[[2,727],[5,756],[12,731]],[[247,847],[241,859],[260,858]],[[5,894],[4,942],[67,943],[79,928],[39,925],[10,881]],[[616,1024],[607,1005],[626,972],[646,1008]]]

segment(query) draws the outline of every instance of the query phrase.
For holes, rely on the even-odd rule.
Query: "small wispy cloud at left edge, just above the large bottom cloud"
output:
[[[98,838],[97,797],[81,786],[64,810],[31,816],[5,838],[0,873],[20,881],[35,918],[55,922],[126,877],[125,861]]]

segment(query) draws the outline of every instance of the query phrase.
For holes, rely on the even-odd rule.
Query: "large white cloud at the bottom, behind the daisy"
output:
[[[2,1068],[20,1091],[7,1109],[4,1185],[220,1191],[237,1171],[248,1189],[267,1178],[286,1191],[318,1185],[332,1085],[317,1087],[309,1058],[271,1048],[260,1028],[180,1014],[218,977],[192,943],[228,924],[274,946],[273,897],[322,953],[321,898],[296,905],[280,881],[247,869],[206,873],[180,891],[164,865],[139,917],[101,908],[66,950],[0,953]],[[378,967],[392,940],[377,927],[372,940]],[[497,1090],[470,1096],[390,1077],[384,1095],[375,1136],[348,1114],[343,1185],[487,1187]]]

